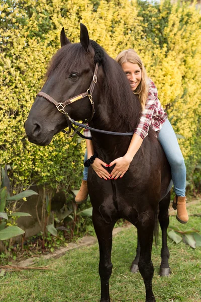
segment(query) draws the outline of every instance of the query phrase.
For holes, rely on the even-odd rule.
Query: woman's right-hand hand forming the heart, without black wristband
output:
[[[129,169],[131,162],[132,162],[132,159],[126,155],[111,162],[109,164],[109,167],[112,167],[113,165],[116,164],[115,168],[113,169],[113,171],[111,173],[111,179],[117,179],[118,177],[122,178],[124,176],[124,174],[126,173],[126,171]]]

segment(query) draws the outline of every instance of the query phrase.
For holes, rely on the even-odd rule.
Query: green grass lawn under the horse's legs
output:
[[[188,211],[201,212],[201,202]],[[181,225],[174,216],[170,224],[181,230],[198,229],[200,217],[190,217],[187,225]],[[144,302],[145,289],[141,275],[132,274],[129,267],[136,249],[136,229],[124,229],[114,238],[110,281],[111,302]],[[153,291],[157,302],[201,301],[200,259],[201,248],[192,249],[183,242],[176,245],[168,239],[170,251],[170,277],[158,276],[160,248],[153,245],[152,261],[155,272]],[[8,273],[0,279],[0,301],[4,302],[98,302],[100,284],[98,276],[98,245],[71,250],[60,259],[39,259],[35,266],[55,270],[21,271]]]

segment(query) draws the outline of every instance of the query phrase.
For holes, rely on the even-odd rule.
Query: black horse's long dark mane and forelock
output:
[[[121,66],[96,42],[90,40],[90,44],[95,52],[94,64],[98,62],[102,65],[105,73],[102,100],[110,112],[113,129],[133,131],[139,123],[142,111],[140,101],[132,93]],[[71,70],[75,65],[83,66],[85,60],[87,53],[80,43],[67,44],[54,55],[46,75],[49,77],[54,72],[56,77],[66,77],[66,70]]]

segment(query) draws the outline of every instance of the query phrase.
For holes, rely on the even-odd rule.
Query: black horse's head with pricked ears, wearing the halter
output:
[[[94,48],[91,46],[87,28],[83,24],[80,24],[80,43],[71,44],[62,29],[61,46],[53,57],[47,72],[47,81],[41,90],[56,103],[63,103],[79,94],[86,93],[93,79],[95,68]],[[101,78],[101,71],[98,70],[98,73]],[[96,86],[98,85],[97,83]],[[93,96],[96,95],[97,89],[93,93]],[[90,118],[93,108],[88,97],[68,103],[65,110],[72,119]],[[59,109],[61,108],[60,106]],[[52,137],[66,126],[66,118],[58,111],[55,104],[44,96],[37,96],[25,122],[29,141],[38,145],[47,145]]]

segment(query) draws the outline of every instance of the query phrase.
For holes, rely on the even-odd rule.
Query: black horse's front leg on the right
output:
[[[151,217],[151,216],[153,217]],[[156,302],[152,291],[152,278],[154,273],[151,261],[151,250],[154,233],[154,213],[142,213],[137,223],[138,236],[140,241],[140,259],[138,262],[139,271],[143,277],[146,289],[146,301]]]

